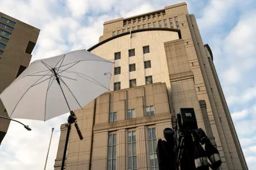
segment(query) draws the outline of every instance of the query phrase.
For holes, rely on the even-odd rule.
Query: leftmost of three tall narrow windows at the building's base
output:
[[[108,134],[108,169],[116,170],[116,134]]]

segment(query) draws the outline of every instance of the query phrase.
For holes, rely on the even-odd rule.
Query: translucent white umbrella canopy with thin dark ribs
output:
[[[49,120],[107,92],[112,67],[86,50],[35,60],[0,98],[10,118]]]

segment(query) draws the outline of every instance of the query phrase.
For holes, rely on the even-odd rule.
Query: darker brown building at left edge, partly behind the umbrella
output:
[[[31,60],[40,30],[0,13],[0,93],[19,76]],[[8,117],[0,100],[0,115]],[[0,118],[0,144],[10,121]]]

